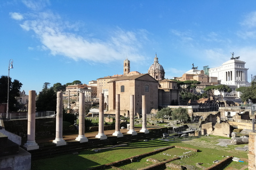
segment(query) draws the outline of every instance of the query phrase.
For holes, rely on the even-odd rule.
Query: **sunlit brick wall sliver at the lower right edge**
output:
[[[249,170],[255,170],[255,140],[256,139],[256,133],[251,132],[249,134],[249,153],[248,153],[248,169]]]

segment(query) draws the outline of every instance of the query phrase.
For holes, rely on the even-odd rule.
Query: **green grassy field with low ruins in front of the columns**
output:
[[[189,167],[189,169],[202,169],[196,166],[196,163],[203,163],[201,166],[210,167],[213,165],[214,160],[222,160],[226,156],[235,156],[239,158],[247,158],[248,151],[235,150],[236,147],[244,147],[245,145],[228,145],[227,147],[216,146],[218,139],[230,139],[224,137],[218,137],[211,135],[210,137],[189,137],[189,138],[175,138],[170,141],[164,140],[149,140],[140,141],[135,143],[129,143],[127,146],[103,149],[98,152],[92,150],[85,150],[79,152],[78,155],[63,155],[54,158],[47,158],[41,160],[35,160],[31,164],[32,170],[40,169],[87,169],[90,167],[99,166],[122,160],[131,156],[144,154],[146,152],[154,151],[157,148],[163,148],[167,146],[182,146],[188,148],[199,149],[199,152],[190,152],[189,150],[172,148],[163,151],[156,155],[151,155],[147,158],[143,158],[138,162],[120,165],[122,169],[138,169],[152,165],[153,163],[147,162],[148,158],[154,158],[157,160],[171,159],[176,156],[183,158],[174,160],[175,164]],[[247,163],[232,162],[227,167],[233,167],[241,169],[247,165]],[[160,170],[160,169],[159,169]]]

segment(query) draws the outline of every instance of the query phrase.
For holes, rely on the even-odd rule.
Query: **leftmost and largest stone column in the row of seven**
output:
[[[35,141],[36,128],[36,91],[30,90],[28,93],[28,140],[24,147],[27,150],[39,149]]]

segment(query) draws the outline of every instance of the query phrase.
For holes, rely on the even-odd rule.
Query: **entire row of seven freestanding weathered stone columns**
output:
[[[84,135],[85,130],[85,96],[82,92],[79,95],[79,132],[78,137],[76,138],[79,142],[87,142],[88,139]],[[100,140],[107,139],[107,136],[104,134],[104,94],[100,94],[100,106],[99,106],[99,133],[95,138]],[[62,138],[62,125],[63,125],[63,94],[61,91],[57,92],[57,115],[56,115],[56,137],[53,140],[53,143],[56,143],[57,146],[66,145],[66,141]],[[36,91],[29,91],[29,101],[28,101],[28,139],[24,147],[27,150],[39,149],[39,146],[35,142],[35,113],[36,113]],[[149,133],[147,130],[147,114],[146,114],[146,96],[142,96],[142,129],[140,132]],[[128,134],[137,135],[137,132],[134,130],[134,95],[130,96],[130,130]],[[115,132],[113,133],[116,137],[123,137],[123,134],[120,132],[120,95],[116,95],[116,124]]]

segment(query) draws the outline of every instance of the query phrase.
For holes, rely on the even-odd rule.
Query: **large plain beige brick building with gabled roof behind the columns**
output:
[[[129,114],[130,96],[134,95],[134,113],[141,114],[142,95],[146,96],[147,113],[151,109],[158,108],[158,81],[152,78],[149,74],[128,75],[116,78],[108,82],[108,106],[109,112],[115,110],[115,96],[120,94],[120,109],[121,114]]]

